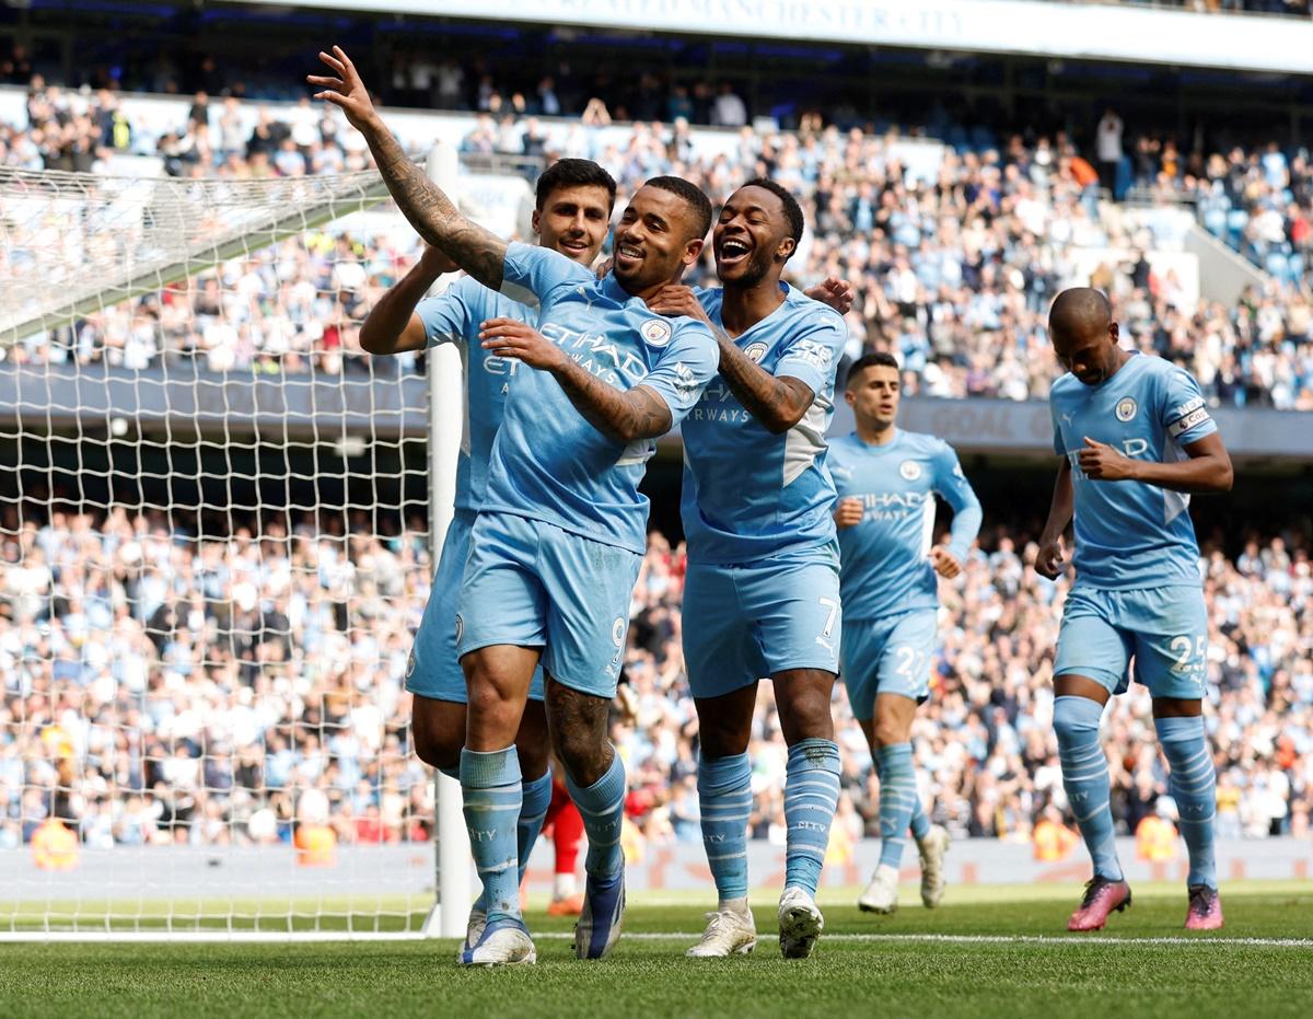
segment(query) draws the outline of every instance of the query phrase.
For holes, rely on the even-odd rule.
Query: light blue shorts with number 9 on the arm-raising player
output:
[[[515,513],[479,513],[470,532],[456,645],[542,647],[544,671],[614,697],[642,557]]]

